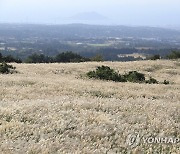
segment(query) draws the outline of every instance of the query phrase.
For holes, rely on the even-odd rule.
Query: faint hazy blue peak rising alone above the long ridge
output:
[[[97,21],[97,20],[107,20],[108,18],[97,12],[83,12],[71,16],[69,19],[79,20],[79,21]]]

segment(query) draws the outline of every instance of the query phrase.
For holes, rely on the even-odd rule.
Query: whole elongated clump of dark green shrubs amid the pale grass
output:
[[[146,80],[145,74],[139,73],[137,71],[130,71],[124,75],[119,74],[114,69],[108,66],[98,66],[96,70],[89,71],[86,74],[89,78],[100,79],[100,80],[111,80],[115,82],[134,82],[134,83],[148,83],[148,84],[158,84],[159,82],[150,77]],[[169,84],[169,81],[164,80],[163,84]]]

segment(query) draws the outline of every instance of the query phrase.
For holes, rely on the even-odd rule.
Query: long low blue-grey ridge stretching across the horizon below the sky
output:
[[[1,37],[49,37],[49,38],[150,38],[179,40],[180,31],[159,27],[102,26],[87,24],[67,25],[13,25],[0,24]]]

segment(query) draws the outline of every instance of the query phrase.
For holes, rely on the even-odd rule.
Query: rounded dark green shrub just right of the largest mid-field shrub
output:
[[[145,75],[142,73],[138,73],[136,71],[131,71],[128,74],[124,75],[124,78],[129,82],[144,82],[145,81]]]

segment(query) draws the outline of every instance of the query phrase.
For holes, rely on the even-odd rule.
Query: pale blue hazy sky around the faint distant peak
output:
[[[61,24],[77,13],[97,12],[109,18],[107,24],[179,26],[179,8],[180,0],[0,0],[0,22]]]

